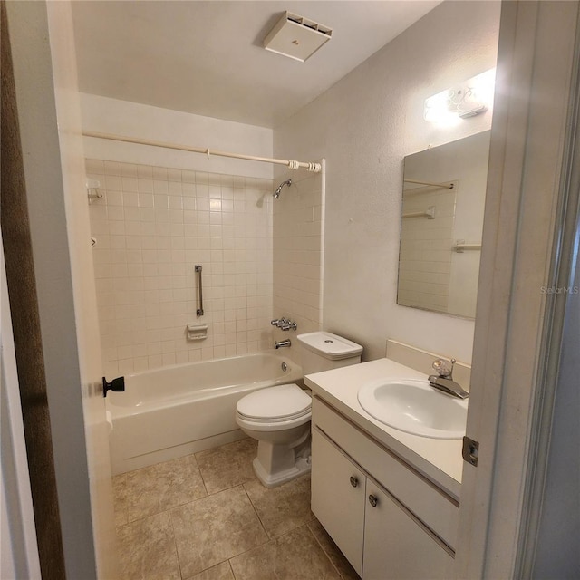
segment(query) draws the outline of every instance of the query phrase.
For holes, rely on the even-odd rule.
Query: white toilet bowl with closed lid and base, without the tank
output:
[[[256,477],[274,488],[310,471],[310,395],[295,383],[253,392],[237,402],[237,425],[258,440]]]

